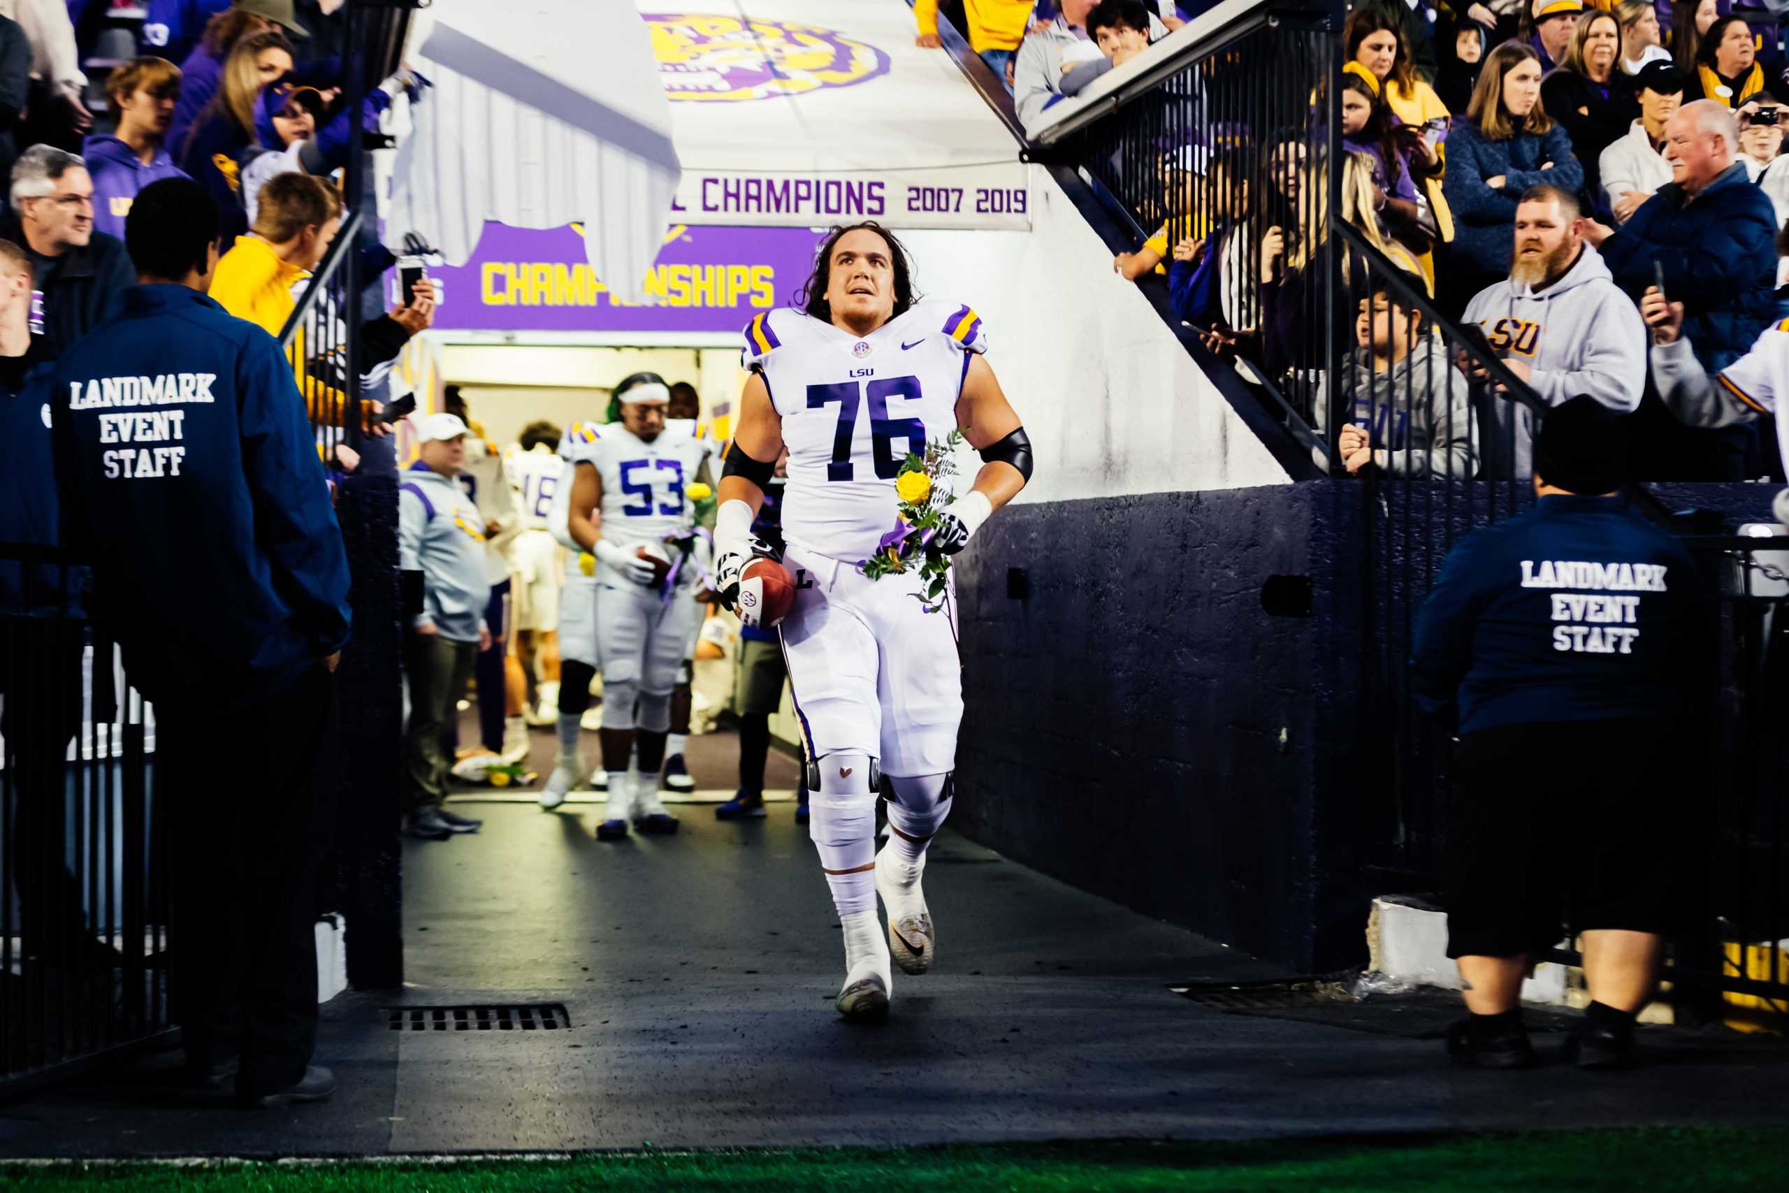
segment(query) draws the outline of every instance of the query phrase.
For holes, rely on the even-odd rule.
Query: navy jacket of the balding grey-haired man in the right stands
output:
[[[1694,202],[1666,182],[1598,249],[1635,300],[1664,267],[1666,297],[1683,304],[1683,338],[1708,372],[1751,351],[1778,318],[1776,209],[1744,165],[1728,166]]]

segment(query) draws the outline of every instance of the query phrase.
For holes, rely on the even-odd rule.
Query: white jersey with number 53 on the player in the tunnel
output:
[[[660,542],[694,526],[687,488],[712,445],[689,431],[642,442],[619,422],[578,422],[565,433],[572,463],[592,463],[603,479],[601,535],[623,547]]]

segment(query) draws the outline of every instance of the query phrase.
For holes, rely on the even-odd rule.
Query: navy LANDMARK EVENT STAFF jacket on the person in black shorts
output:
[[[1623,497],[1549,495],[1467,535],[1422,603],[1410,687],[1460,733],[1667,717],[1705,681],[1703,578]]]

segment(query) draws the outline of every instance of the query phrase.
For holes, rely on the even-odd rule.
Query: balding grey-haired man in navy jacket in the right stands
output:
[[[1716,374],[1776,318],[1776,211],[1739,161],[1739,122],[1714,100],[1685,104],[1666,122],[1664,154],[1671,181],[1621,231],[1587,224],[1585,240],[1635,302],[1662,279],[1666,299],[1683,304],[1696,361]],[[1685,467],[1648,479],[1744,479],[1750,427],[1660,426],[1673,440],[1666,454]]]

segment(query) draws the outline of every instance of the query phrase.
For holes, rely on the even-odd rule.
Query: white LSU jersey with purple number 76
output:
[[[957,429],[982,320],[954,302],[920,302],[868,336],[793,308],[746,326],[744,365],[764,372],[789,447],[784,538],[857,563],[894,528],[894,476]]]

